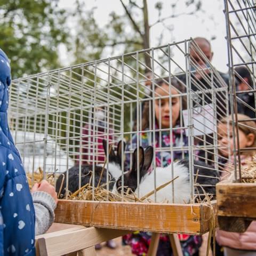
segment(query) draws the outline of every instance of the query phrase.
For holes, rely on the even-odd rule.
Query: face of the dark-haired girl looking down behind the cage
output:
[[[155,90],[155,97],[169,96],[169,85],[163,84],[161,87],[157,87]],[[171,94],[179,94],[174,88],[171,88]],[[171,98],[172,108],[172,127],[177,123],[180,115],[180,97]],[[155,101],[155,113],[158,124],[161,122],[161,128],[170,128],[170,106],[169,97],[164,99],[157,99]]]

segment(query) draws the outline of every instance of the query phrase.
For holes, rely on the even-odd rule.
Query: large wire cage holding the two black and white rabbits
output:
[[[90,187],[94,203],[115,195],[161,210],[215,197],[223,165],[217,124],[229,115],[228,85],[193,39],[15,79],[10,99],[26,172],[33,182],[40,167],[62,198]],[[59,221],[68,218],[63,207]],[[183,232],[206,231],[201,210],[198,218],[187,210],[199,228]],[[88,218],[82,222],[91,224]],[[106,226],[100,221],[94,225]]]

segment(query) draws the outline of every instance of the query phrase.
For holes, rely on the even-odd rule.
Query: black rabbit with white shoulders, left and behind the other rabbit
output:
[[[124,143],[124,142],[123,142]],[[105,151],[105,156],[107,156],[107,141],[103,140],[102,145]],[[124,146],[125,148],[125,143]],[[113,189],[114,183],[116,179],[121,175],[121,164],[122,164],[122,141],[118,142],[117,145],[117,154],[115,154],[114,150],[109,150],[109,162],[108,162],[108,170],[109,170],[109,190]],[[92,176],[92,165],[83,164],[81,166],[81,187],[90,182]],[[98,164],[94,166],[94,186],[97,187],[100,175],[102,171],[103,164]],[[106,167],[106,166],[105,166]],[[64,175],[64,180],[63,180]],[[66,178],[67,172],[64,172],[63,175],[60,175],[56,182],[55,191],[59,194],[59,190],[61,188],[61,183],[63,180],[63,186],[60,191],[60,198],[65,196],[66,193]],[[91,179],[92,183],[92,179]],[[100,185],[107,183],[107,170],[103,171]],[[75,165],[68,170],[68,190],[71,193],[74,193],[79,189],[79,165]]]

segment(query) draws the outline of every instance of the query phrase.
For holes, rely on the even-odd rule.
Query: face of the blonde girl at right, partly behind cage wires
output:
[[[255,136],[253,133],[245,134],[242,130],[238,130],[239,135],[239,147],[247,148],[251,147],[254,143]],[[229,141],[229,142],[228,142]],[[228,143],[230,145],[230,154],[233,155],[234,142],[233,142],[233,132],[232,126],[229,125],[229,137],[228,137],[228,127],[227,124],[220,123],[218,125],[218,145],[223,147],[219,149],[219,154],[228,157]],[[237,148],[237,144],[236,144]]]

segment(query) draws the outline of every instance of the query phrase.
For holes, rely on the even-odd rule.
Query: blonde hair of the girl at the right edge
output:
[[[256,147],[256,123],[254,121],[251,120],[251,118],[249,116],[243,115],[243,114],[237,114],[237,121],[242,121],[242,120],[246,120],[243,122],[238,122],[238,129],[241,130],[245,135],[248,135],[249,133],[254,134],[254,142],[252,144],[251,147]],[[232,125],[232,116],[228,116],[226,118],[222,118],[220,120],[219,123],[222,124],[227,124],[229,123],[229,125]],[[248,153],[246,153],[246,155],[254,155],[256,153],[256,150],[252,150]]]

